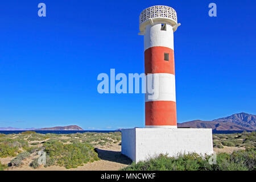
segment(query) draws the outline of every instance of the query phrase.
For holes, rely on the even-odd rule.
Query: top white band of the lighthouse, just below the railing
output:
[[[144,51],[150,47],[163,46],[174,50],[174,31],[170,24],[166,24],[166,31],[161,30],[161,23],[154,22],[146,26],[144,35]]]

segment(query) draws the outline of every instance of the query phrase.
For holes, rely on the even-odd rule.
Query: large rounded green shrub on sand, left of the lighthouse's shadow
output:
[[[85,163],[99,160],[92,146],[85,143],[63,144],[61,142],[46,142],[45,151],[56,164],[65,168],[76,168]]]

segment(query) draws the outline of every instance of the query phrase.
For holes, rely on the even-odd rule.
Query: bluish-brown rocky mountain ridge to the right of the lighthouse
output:
[[[213,130],[256,130],[256,115],[247,113],[232,114],[213,121],[194,120],[177,123],[177,127],[209,128]]]

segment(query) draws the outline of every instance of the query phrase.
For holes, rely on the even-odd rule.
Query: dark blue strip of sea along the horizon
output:
[[[19,134],[23,131],[35,131],[40,134],[72,134],[72,133],[86,133],[86,132],[94,132],[94,133],[110,133],[110,132],[118,132],[121,130],[0,130],[2,134]],[[251,132],[251,131],[248,131]],[[213,134],[232,134],[232,133],[243,133],[243,130],[229,130],[229,131],[221,131],[221,130],[212,130]]]

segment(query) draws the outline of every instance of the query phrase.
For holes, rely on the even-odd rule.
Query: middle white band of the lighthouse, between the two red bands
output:
[[[146,75],[145,102],[148,101],[176,102],[175,75],[170,73],[154,73]]]

